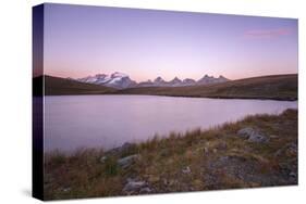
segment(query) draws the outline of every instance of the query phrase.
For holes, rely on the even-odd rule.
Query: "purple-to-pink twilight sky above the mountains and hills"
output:
[[[297,20],[45,4],[45,74],[230,79],[297,73]]]

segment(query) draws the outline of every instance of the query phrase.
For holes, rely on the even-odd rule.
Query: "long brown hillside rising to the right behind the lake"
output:
[[[297,100],[297,75],[273,75],[191,87],[142,87],[120,94]]]

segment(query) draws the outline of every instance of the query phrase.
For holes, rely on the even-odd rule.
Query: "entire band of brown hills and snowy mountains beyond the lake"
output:
[[[34,85],[42,81],[42,76],[34,78]],[[154,81],[135,82],[127,75],[96,75],[81,79],[44,76],[46,95],[63,94],[150,94],[169,97],[195,97],[220,99],[272,99],[297,100],[297,74],[271,75],[238,80],[222,76],[204,76],[180,80],[175,77],[164,81],[157,77]],[[35,89],[34,89],[35,93]]]

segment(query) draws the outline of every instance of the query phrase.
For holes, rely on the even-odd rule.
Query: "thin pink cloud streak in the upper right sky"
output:
[[[270,39],[281,36],[287,36],[292,33],[290,28],[277,28],[277,29],[252,29],[244,33],[244,37],[250,39]]]

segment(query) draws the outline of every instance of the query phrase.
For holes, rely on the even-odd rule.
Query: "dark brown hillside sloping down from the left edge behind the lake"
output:
[[[64,95],[64,94],[103,94],[115,91],[113,88],[103,87],[100,85],[91,85],[78,82],[60,77],[44,76],[45,77],[45,94],[46,95]],[[34,79],[41,81],[42,76]]]

